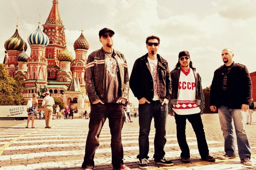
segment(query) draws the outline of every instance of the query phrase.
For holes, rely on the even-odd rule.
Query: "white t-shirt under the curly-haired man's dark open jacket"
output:
[[[159,100],[159,96],[157,93],[157,79],[158,79],[158,74],[157,74],[157,61],[158,59],[150,59],[149,57],[147,57],[147,60],[149,62],[150,65],[150,73],[152,75],[153,78],[153,87],[154,87],[154,97],[153,100]]]

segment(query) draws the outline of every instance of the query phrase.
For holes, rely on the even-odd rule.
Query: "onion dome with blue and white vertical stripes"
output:
[[[38,28],[29,35],[27,40],[29,45],[40,44],[47,46],[49,44],[49,38],[46,34],[43,33],[43,31],[40,29],[40,26],[38,26]]]

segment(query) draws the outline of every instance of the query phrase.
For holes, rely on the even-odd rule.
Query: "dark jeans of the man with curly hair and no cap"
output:
[[[155,123],[155,139],[154,139],[154,159],[162,159],[165,156],[165,143],[166,143],[166,119],[167,119],[167,104],[162,105],[159,101],[151,101],[138,105],[138,122],[140,126],[138,144],[139,154],[138,159],[149,158],[149,133],[151,121],[154,118]]]

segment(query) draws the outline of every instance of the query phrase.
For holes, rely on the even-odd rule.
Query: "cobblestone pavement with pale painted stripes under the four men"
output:
[[[256,116],[253,115],[253,119]],[[168,116],[166,157],[174,162],[174,166],[159,166],[153,163],[154,127],[150,131],[150,163],[148,170],[248,170],[256,165],[246,166],[237,157],[232,160],[220,160],[224,155],[224,142],[218,120],[218,114],[202,115],[206,139],[210,155],[216,158],[215,163],[200,160],[197,140],[194,131],[187,124],[186,136],[190,147],[191,163],[180,161],[180,149],[176,138],[174,117]],[[254,120],[255,120],[254,119]],[[138,118],[124,124],[122,141],[124,146],[124,162],[132,170],[139,170],[138,159]],[[88,119],[53,120],[52,128],[44,128],[44,120],[35,120],[35,129],[26,129],[26,122],[0,131],[0,170],[80,170],[85,140],[88,133]],[[1,123],[1,122],[0,122]],[[31,126],[31,122],[29,124]],[[1,126],[1,125],[0,125]],[[256,163],[256,123],[247,125],[250,139],[252,161]],[[112,170],[110,133],[108,121],[100,134],[100,146],[95,154],[95,170]]]

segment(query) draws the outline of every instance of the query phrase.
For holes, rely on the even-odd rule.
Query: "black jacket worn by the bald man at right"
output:
[[[219,107],[224,65],[215,70],[210,91],[210,106]],[[233,62],[227,75],[227,107],[241,109],[242,104],[252,101],[252,82],[246,66]]]

